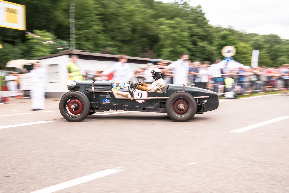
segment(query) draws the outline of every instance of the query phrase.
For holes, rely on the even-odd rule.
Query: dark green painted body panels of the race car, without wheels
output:
[[[127,81],[128,82],[128,81]],[[84,93],[90,102],[95,103],[103,103],[103,99],[109,99],[110,103],[108,104],[116,104],[116,105],[131,105],[131,106],[138,106],[138,107],[154,107],[156,103],[159,102],[165,102],[167,99],[151,99],[146,100],[142,103],[139,103],[135,100],[128,100],[128,99],[116,99],[114,95],[111,93],[110,98],[108,96],[100,96],[105,95],[105,93],[95,93],[95,98],[93,97],[93,93],[87,92],[87,90],[92,90],[92,81],[76,81],[76,86],[73,90],[77,90],[79,92]],[[136,89],[136,85],[131,81],[130,88]],[[95,81],[94,83],[95,90],[105,90],[105,91],[111,91],[113,88],[113,83],[111,81]],[[183,91],[184,86],[183,85],[176,85],[176,84],[168,84],[168,90],[165,92],[148,92],[148,97],[155,97],[155,96],[167,96],[169,97],[171,94]],[[190,93],[193,97],[199,97],[199,96],[209,96],[209,98],[206,99],[200,99],[200,101],[207,100],[208,103],[205,104],[204,111],[212,111],[214,109],[218,108],[218,95],[215,92],[212,92],[210,90],[205,90],[197,87],[192,86],[186,86],[185,92]],[[129,94],[133,96],[133,92],[129,91]]]

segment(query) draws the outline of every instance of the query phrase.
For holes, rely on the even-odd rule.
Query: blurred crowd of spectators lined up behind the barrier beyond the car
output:
[[[209,61],[191,62],[189,64],[188,82],[185,84],[195,84],[196,87],[212,90],[217,93],[240,92],[244,95],[251,91],[262,93],[265,90],[289,89],[289,64],[283,64],[279,67],[257,66],[257,68],[248,68],[249,66],[239,68],[223,68],[214,67],[221,60],[216,59],[214,64]],[[162,70],[162,77],[165,84],[174,83],[174,70],[168,68],[169,62],[155,62],[155,64],[147,64],[147,68],[139,68],[134,71],[134,75],[138,76],[144,83],[153,82],[151,78],[151,70],[159,68]],[[185,76],[185,75],[183,75]],[[84,75],[85,80],[112,80],[113,72],[103,75],[97,71],[92,73],[87,71]]]

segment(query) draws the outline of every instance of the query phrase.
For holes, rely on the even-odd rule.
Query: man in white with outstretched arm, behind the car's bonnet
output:
[[[118,62],[112,64],[108,69],[102,72],[103,75],[108,75],[114,72],[112,80],[128,80],[134,72],[129,64],[127,64],[127,55],[119,55]]]

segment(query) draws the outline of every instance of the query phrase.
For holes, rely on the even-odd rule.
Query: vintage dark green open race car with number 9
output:
[[[80,122],[95,112],[108,110],[161,112],[177,122],[190,120],[196,113],[219,106],[218,95],[195,85],[166,84],[162,92],[136,89],[134,76],[128,81],[71,81],[70,92],[59,103],[61,115],[70,122]]]

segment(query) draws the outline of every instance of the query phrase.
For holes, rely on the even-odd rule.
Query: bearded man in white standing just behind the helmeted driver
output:
[[[189,59],[188,54],[180,54],[177,61],[168,65],[168,68],[173,71],[173,83],[174,84],[189,84]]]

